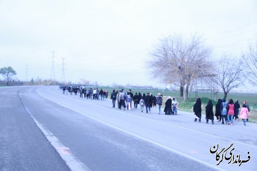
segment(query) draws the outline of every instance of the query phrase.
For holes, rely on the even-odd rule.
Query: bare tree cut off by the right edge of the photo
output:
[[[253,85],[257,85],[257,41],[249,46],[243,55],[243,65],[245,66],[246,79]]]

